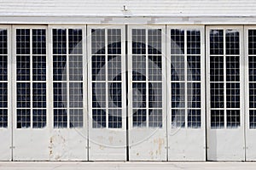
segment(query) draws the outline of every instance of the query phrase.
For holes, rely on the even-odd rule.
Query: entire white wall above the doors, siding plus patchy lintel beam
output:
[[[124,5],[127,10],[123,10]],[[188,21],[190,24],[194,23],[198,17],[202,18],[196,21],[199,24],[207,24],[212,17],[225,18],[224,21],[230,21],[230,24],[247,22],[247,20],[251,20],[250,23],[253,23],[256,18],[256,0],[0,0],[0,23],[7,24],[9,22],[49,24],[56,21],[61,24],[102,22],[136,24],[136,20],[116,21],[115,18],[106,17],[143,18],[144,16],[160,17],[161,19],[165,17],[180,18],[180,22],[183,21],[185,24]],[[230,18],[236,18],[236,21],[227,20]],[[139,23],[142,22],[161,23],[156,20],[144,19]],[[166,23],[166,21],[162,22]],[[218,20],[218,22],[221,21]]]

